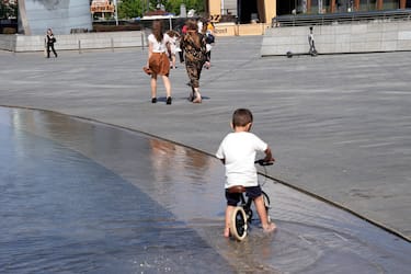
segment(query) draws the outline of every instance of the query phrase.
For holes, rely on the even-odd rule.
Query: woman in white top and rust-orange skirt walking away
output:
[[[165,87],[165,103],[171,104],[170,60],[170,36],[162,32],[162,21],[152,22],[152,33],[148,35],[147,67],[151,70],[151,103],[157,103],[157,77],[161,76]]]

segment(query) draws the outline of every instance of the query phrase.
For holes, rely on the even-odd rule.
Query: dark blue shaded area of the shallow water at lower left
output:
[[[35,116],[12,117],[11,125],[1,122],[0,152],[8,159],[0,163],[1,273],[189,273],[198,266],[204,270],[201,273],[231,272],[183,220],[79,152],[85,148],[84,152],[100,155],[91,148],[93,142],[82,144],[79,151],[66,146],[77,137],[83,142],[85,133],[73,130],[57,139],[61,132],[53,128],[67,129],[61,123],[54,121],[54,126],[43,132],[43,126],[25,127],[33,125]],[[45,134],[55,139],[45,138]],[[94,145],[107,144],[113,142]],[[116,157],[109,158],[123,160]],[[146,160],[146,169],[137,170],[141,184],[155,181],[141,174],[149,165]],[[207,261],[218,263],[208,265]]]

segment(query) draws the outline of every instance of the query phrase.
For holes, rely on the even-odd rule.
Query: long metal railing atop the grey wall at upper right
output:
[[[410,21],[411,9],[392,11],[346,12],[328,14],[279,15],[273,18],[272,26],[330,25],[369,21]]]

